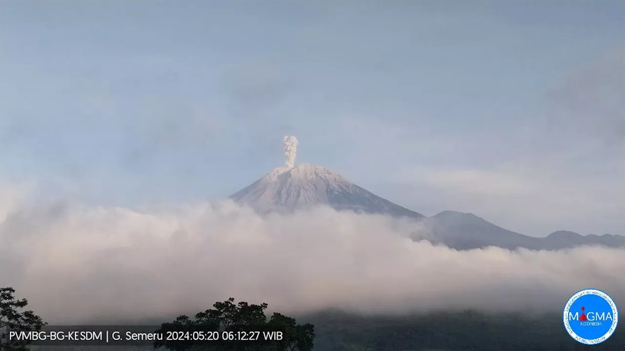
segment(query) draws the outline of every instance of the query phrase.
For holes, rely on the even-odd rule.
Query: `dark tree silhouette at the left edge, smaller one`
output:
[[[28,305],[28,300],[17,300],[14,297],[15,289],[0,288],[0,351],[27,350],[30,344],[26,340],[19,342],[9,340],[9,332],[39,331],[46,323],[31,310],[19,312]]]

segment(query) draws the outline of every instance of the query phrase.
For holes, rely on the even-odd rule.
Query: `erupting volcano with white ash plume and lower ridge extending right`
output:
[[[336,210],[384,214],[416,219],[426,228],[426,239],[452,249],[470,250],[489,246],[514,250],[560,250],[582,245],[625,247],[622,235],[579,235],[561,230],[547,237],[531,237],[512,232],[470,213],[443,211],[426,217],[406,207],[349,182],[336,172],[311,164],[295,166],[297,139],[284,137],[285,166],[277,167],[261,179],[231,195],[239,205],[251,207],[259,214],[291,213],[324,205]]]

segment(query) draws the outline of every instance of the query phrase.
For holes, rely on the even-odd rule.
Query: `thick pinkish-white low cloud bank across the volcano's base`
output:
[[[53,323],[194,313],[231,296],[285,313],[541,313],[587,287],[625,302],[619,249],[459,252],[408,239],[417,224],[327,208],[259,217],[232,202],[0,203],[0,286]]]

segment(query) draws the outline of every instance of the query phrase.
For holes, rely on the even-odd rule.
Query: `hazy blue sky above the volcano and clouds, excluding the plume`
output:
[[[622,1],[0,1],[0,176],[101,205],[283,162],[426,215],[625,234]]]

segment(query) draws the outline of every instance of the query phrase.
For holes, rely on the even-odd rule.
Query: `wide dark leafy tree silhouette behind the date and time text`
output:
[[[234,298],[216,302],[214,309],[199,312],[194,319],[181,315],[173,322],[161,324],[159,333],[168,332],[184,335],[212,332],[216,340],[192,341],[159,340],[154,349],[164,347],[169,351],[233,350],[233,351],[310,351],[314,345],[314,325],[298,325],[296,320],[286,315],[274,313],[269,320],[265,314],[267,304],[234,304]],[[249,335],[254,332],[257,340],[227,340],[224,335]],[[257,332],[260,332],[259,334]],[[279,340],[265,340],[264,332],[281,332]],[[191,339],[195,339],[191,337]]]

